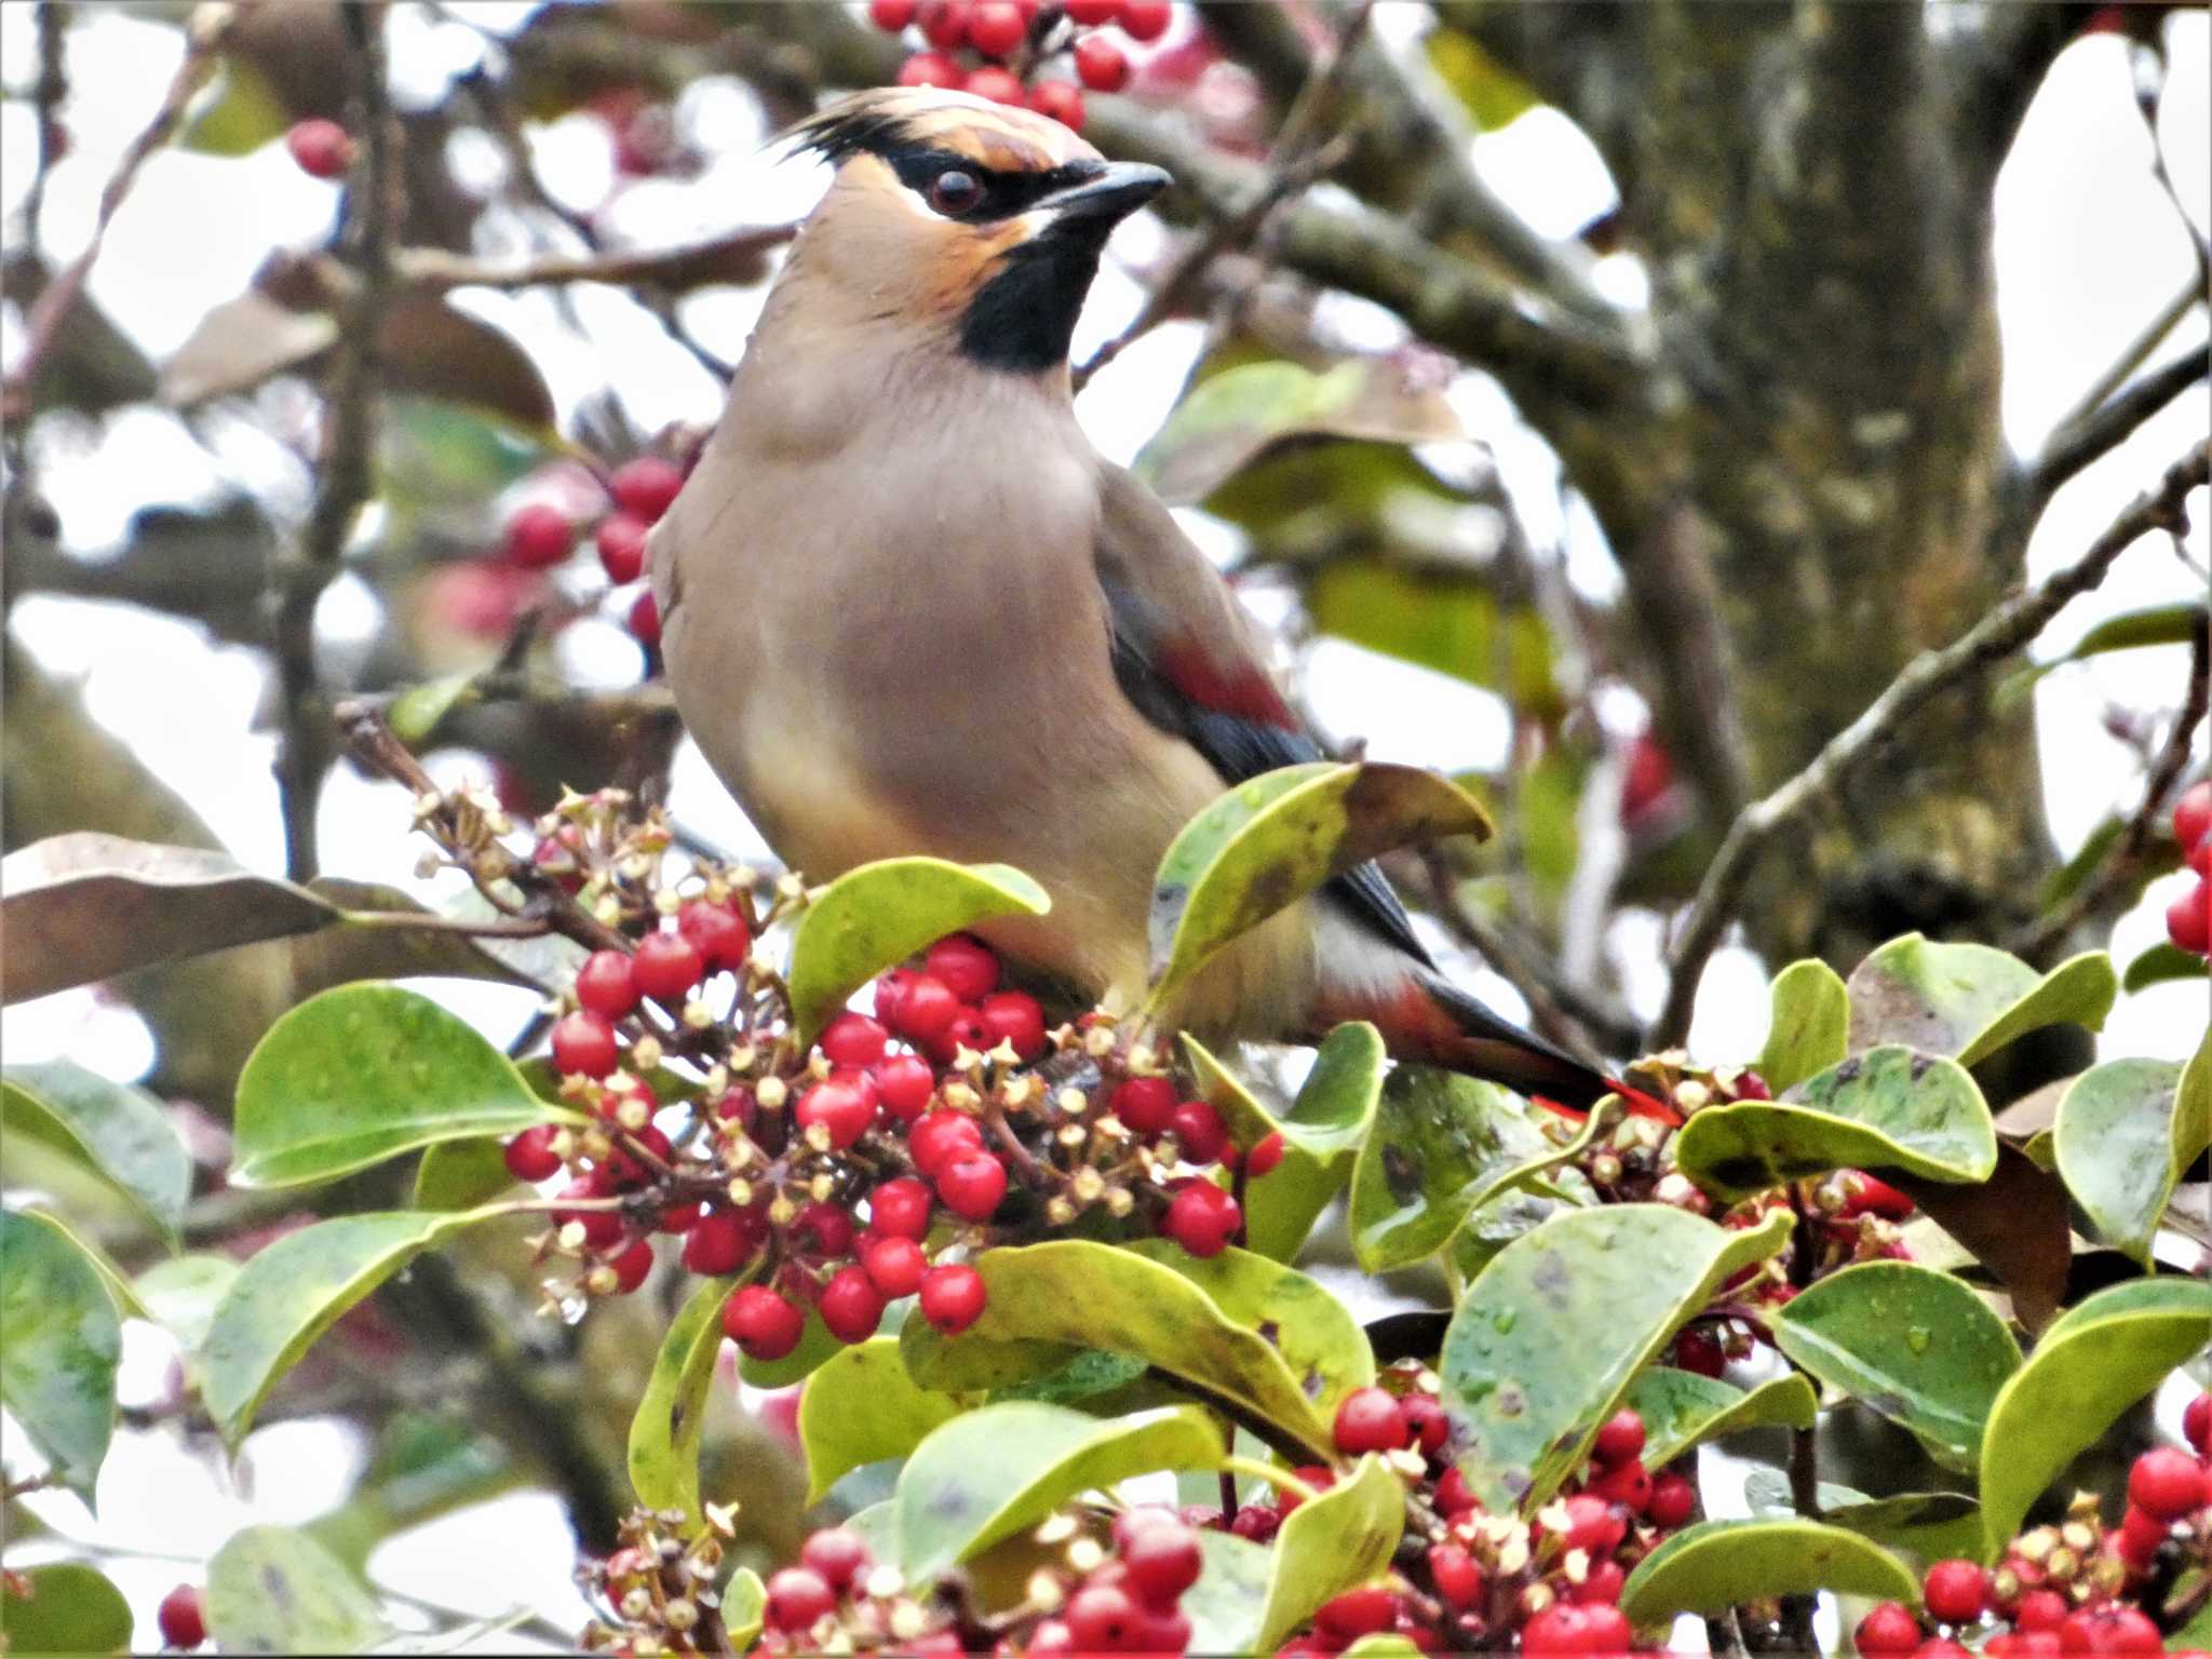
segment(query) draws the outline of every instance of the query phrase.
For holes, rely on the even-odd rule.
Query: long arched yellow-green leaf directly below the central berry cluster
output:
[[[898,1334],[922,1387],[1004,1387],[1053,1371],[1075,1352],[1104,1349],[1197,1383],[1296,1436],[1318,1458],[1334,1455],[1329,1416],[1307,1391],[1318,1394],[1325,1378],[1294,1374],[1274,1343],[1230,1318],[1175,1267],[1135,1250],[1055,1239],[984,1250],[975,1272],[989,1298],[967,1332],[945,1336],[909,1318]]]

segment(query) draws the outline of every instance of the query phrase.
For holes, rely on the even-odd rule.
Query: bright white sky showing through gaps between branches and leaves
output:
[[[529,7],[504,11],[518,18]],[[53,257],[69,257],[82,246],[100,186],[119,148],[159,100],[179,58],[177,33],[170,29],[113,11],[86,9],[80,18],[71,31],[75,97],[69,124],[75,148],[55,168],[46,201]],[[2172,18],[2170,31],[2166,161],[2203,232],[2212,226],[2205,144],[2212,42],[2203,13]],[[31,60],[29,44],[31,7],[0,7],[0,60],[11,66],[13,80],[22,77]],[[394,66],[403,97],[434,97],[442,77],[465,66],[473,51],[471,31],[425,24],[411,9],[396,9]],[[24,102],[0,104],[0,210],[9,215],[33,164],[31,119]],[[750,155],[761,137],[759,119],[750,97],[734,84],[692,88],[681,119],[723,159],[697,184],[633,188],[611,212],[619,234],[690,237],[737,221],[774,221],[805,206],[812,184],[801,168],[763,173]],[[606,177],[606,148],[597,128],[584,117],[571,117],[542,131],[538,142],[562,188],[588,208]],[[480,155],[465,153],[460,159],[482,164]],[[1475,164],[1537,228],[1553,234],[1575,230],[1613,201],[1610,179],[1595,150],[1553,111],[1535,111],[1504,133],[1478,139]],[[2126,44],[2101,35],[2073,46],[2028,115],[1995,204],[2004,429],[2022,453],[2033,453],[2115,352],[2190,279],[2188,239],[2148,164],[2150,144],[2130,95]],[[301,175],[281,146],[243,159],[157,155],[108,234],[91,294],[159,361],[210,305],[246,288],[272,246],[316,241],[330,226],[334,204],[334,186]],[[1157,246],[1159,230],[1139,221],[1128,228],[1117,252],[1141,261]],[[1632,261],[1615,259],[1606,265],[1608,294],[1632,301],[1641,292],[1641,274]],[[710,345],[734,356],[759,301],[759,292],[703,296],[688,305],[686,316]],[[1108,270],[1086,314],[1077,354],[1113,334],[1137,301],[1137,285]],[[599,385],[602,363],[622,361],[626,400],[646,429],[677,418],[712,418],[717,387],[644,312],[606,292],[580,292],[577,305],[595,332],[591,345],[562,332],[546,294],[471,296],[478,314],[531,345],[564,409]],[[1387,343],[1394,327],[1363,305],[1347,303],[1332,316],[1347,336],[1369,343]],[[2205,338],[2205,310],[2199,305],[2154,361],[2197,345]],[[1082,414],[1106,453],[1126,460],[1166,416],[1194,341],[1194,325],[1164,327],[1097,376],[1082,400]],[[13,358],[18,349],[20,323],[9,316],[7,327],[0,327],[0,354]],[[1613,584],[1615,575],[1586,515],[1571,524],[1553,522],[1548,453],[1511,422],[1495,389],[1471,376],[1453,396],[1471,434],[1498,451],[1515,500],[1535,509],[1531,529],[1540,542],[1564,535],[1571,571],[1586,591]],[[2070,560],[2205,425],[2208,405],[2199,387],[2068,484],[2035,535],[2031,573],[2039,575]],[[305,482],[299,465],[279,447],[243,434],[232,434],[226,442],[221,467],[234,482],[257,489],[274,482],[294,500]],[[219,478],[208,451],[168,416],[150,411],[108,420],[95,440],[80,436],[73,445],[51,445],[42,471],[69,544],[84,551],[111,546],[137,507],[204,500]],[[1219,535],[1199,529],[1210,546],[1221,544]],[[2201,520],[2190,544],[2194,557],[2205,562],[2208,535]],[[2077,602],[2059,619],[2044,650],[2064,648],[2104,615],[2194,591],[2194,580],[2174,557],[2146,544],[2121,560],[2099,593]],[[356,628],[374,626],[365,588],[334,591],[330,604],[345,611]],[[181,622],[64,599],[22,602],[15,630],[49,670],[86,679],[95,717],[184,792],[243,863],[281,872],[276,792],[268,772],[272,748],[265,734],[250,730],[263,690],[252,653],[210,646]],[[604,648],[628,650],[626,641]],[[611,661],[619,672],[635,657],[615,655]],[[2104,657],[2044,681],[2037,695],[2039,743],[2046,803],[2062,847],[2073,849],[2115,801],[2132,801],[2139,787],[2135,757],[2104,728],[2106,706],[2163,708],[2179,695],[2181,672],[2183,653],[2172,648]],[[1354,646],[1327,644],[1318,650],[1312,688],[1329,730],[1365,734],[1369,752],[1378,757],[1462,768],[1495,763],[1504,743],[1502,708],[1489,695]],[[754,841],[692,750],[686,750],[677,768],[675,805],[684,818],[730,847]],[[407,883],[414,849],[403,823],[405,799],[396,790],[372,787],[341,772],[323,801],[327,867]],[[2179,880],[2157,885],[2115,929],[2112,951],[2119,962],[2163,938],[2163,907],[2177,889]],[[1657,918],[1650,916],[1621,918],[1610,940],[1628,975],[1630,998],[1644,1011],[1652,1011],[1663,991],[1655,967],[1657,945]],[[1692,1046],[1714,1055],[1754,1053],[1765,1022],[1761,984],[1759,964],[1745,951],[1723,951],[1705,980]],[[1511,991],[1489,975],[1482,989],[1506,1006],[1515,1004]],[[482,1018],[500,1035],[522,1013],[513,995],[484,987],[469,987],[458,998],[471,1018]],[[2106,1048],[2179,1057],[2194,1046],[2203,1020],[2201,984],[2124,998],[2106,1031]],[[153,1060],[135,1015],[111,1009],[91,993],[9,1009],[0,1040],[11,1062],[69,1053],[122,1077],[144,1073]],[[276,1433],[254,1438],[254,1462],[279,1451],[272,1438]],[[314,1458],[283,1458],[288,1480],[290,1471],[316,1462],[332,1467],[332,1436],[325,1431],[319,1444]],[[181,1455],[161,1433],[124,1436],[124,1449],[108,1462],[108,1513],[146,1515],[146,1526],[153,1528],[144,1533],[146,1542],[195,1557],[248,1517],[288,1517],[279,1513],[283,1504],[268,1484],[254,1491],[252,1502],[237,1491],[217,1471]],[[327,1502],[303,1493],[296,1482],[288,1491],[294,1513],[299,1504],[314,1509]],[[330,1493],[336,1493],[336,1484]],[[62,1502],[58,1513],[71,1509],[71,1502]],[[526,1584],[515,1577],[489,1584],[482,1564],[491,1542],[500,1544],[498,1557],[518,1571],[551,1566]],[[566,1586],[564,1551],[566,1535],[551,1500],[511,1498],[394,1542],[380,1553],[378,1571],[396,1584],[467,1599],[484,1613],[520,1595],[555,1610],[555,1617],[571,1617],[575,1595]],[[117,1568],[117,1577],[142,1613],[148,1613],[177,1573],[142,1566]],[[148,1635],[150,1624],[142,1628],[142,1639]]]

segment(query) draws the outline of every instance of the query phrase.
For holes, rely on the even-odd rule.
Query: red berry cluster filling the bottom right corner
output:
[[[2128,1509],[2104,1526],[2090,1495],[2075,1500],[2059,1526],[2037,1526],[2006,1548],[1995,1571],[1975,1562],[1936,1562],[1922,1582],[1922,1621],[1885,1601],[1858,1624],[1863,1655],[1949,1659],[1960,1637],[1984,1637],[1995,1659],[2068,1652],[2161,1652],[2163,1637],[2137,1597],[2152,1582],[2212,1566],[2212,1394],[2190,1400],[2181,1420],[2197,1449],[2154,1447],[2128,1471]],[[1984,1626],[2004,1624],[1991,1635]]]

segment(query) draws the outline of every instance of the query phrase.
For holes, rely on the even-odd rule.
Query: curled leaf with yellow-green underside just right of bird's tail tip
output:
[[[1902,1170],[1978,1183],[1997,1168],[1997,1126],[1955,1060],[1869,1048],[1792,1095],[1692,1113],[1674,1141],[1677,1166],[1728,1199],[1829,1170]]]

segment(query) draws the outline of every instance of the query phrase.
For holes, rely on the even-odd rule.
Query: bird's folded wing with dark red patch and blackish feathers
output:
[[[1237,595],[1152,491],[1104,469],[1097,577],[1113,622],[1124,695],[1164,732],[1190,743],[1223,783],[1327,754],[1267,672]],[[1427,964],[1398,894],[1376,865],[1329,891],[1371,931]]]

